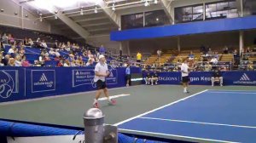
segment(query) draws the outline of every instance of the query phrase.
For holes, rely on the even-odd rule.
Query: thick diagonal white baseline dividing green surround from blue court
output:
[[[199,93],[196,93],[196,94],[192,94],[192,95],[190,95],[190,96],[188,96],[188,97],[185,97],[185,98],[183,98],[183,99],[174,101],[174,102],[169,103],[169,104],[167,104],[167,105],[165,105],[165,106],[160,106],[160,107],[155,108],[155,109],[153,109],[153,110],[151,110],[151,111],[149,111],[149,112],[144,112],[143,114],[137,115],[137,116],[135,116],[135,117],[128,118],[128,119],[126,119],[126,120],[124,120],[124,121],[122,121],[122,122],[115,123],[115,124],[113,124],[113,125],[114,125],[114,126],[119,126],[120,124],[129,122],[129,121],[131,121],[131,120],[133,120],[133,119],[135,119],[135,118],[137,118],[137,117],[142,117],[142,116],[144,116],[144,115],[146,115],[146,114],[148,114],[148,113],[155,112],[155,111],[158,111],[158,110],[160,110],[160,109],[163,109],[163,108],[165,108],[166,106],[172,106],[173,104],[176,104],[176,103],[179,102],[179,101],[187,100],[187,99],[189,99],[189,98],[191,98],[191,97],[193,97],[193,96],[195,96],[195,95],[197,95],[197,94],[202,94],[202,93],[204,93],[204,92],[207,92],[207,90],[208,90],[208,89],[203,90],[203,91],[201,91],[201,92],[199,92]]]

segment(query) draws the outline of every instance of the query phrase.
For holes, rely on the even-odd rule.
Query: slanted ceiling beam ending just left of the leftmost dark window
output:
[[[108,8],[107,3],[105,3],[103,0],[100,0],[98,2],[98,6],[100,6],[103,12],[108,15],[108,18],[113,22],[113,24],[119,28],[121,27],[120,16],[116,14],[111,8]]]

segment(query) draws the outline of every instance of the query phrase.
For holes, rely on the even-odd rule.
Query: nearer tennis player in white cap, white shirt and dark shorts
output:
[[[109,98],[107,84],[106,84],[106,77],[110,75],[108,72],[108,65],[106,63],[105,56],[101,54],[99,56],[99,62],[95,66],[95,77],[94,82],[96,83],[96,98],[93,102],[93,106],[99,108],[98,99],[100,98],[102,91],[104,92],[105,96],[108,99],[109,105],[115,105],[116,101]]]

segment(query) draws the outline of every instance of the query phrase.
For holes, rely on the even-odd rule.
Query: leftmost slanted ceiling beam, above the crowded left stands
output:
[[[79,24],[77,24],[76,22],[74,22],[73,20],[71,20],[69,17],[67,17],[67,15],[61,14],[61,12],[58,12],[57,14],[55,14],[60,20],[62,20],[67,26],[69,26],[73,31],[75,31],[76,33],[79,34],[80,37],[83,37],[84,39],[86,39],[87,37],[89,37],[90,32],[84,30],[84,28],[82,26],[79,26]]]

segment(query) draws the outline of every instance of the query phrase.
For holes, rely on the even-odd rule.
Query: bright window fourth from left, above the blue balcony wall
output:
[[[238,17],[236,0],[206,3],[206,20]]]

